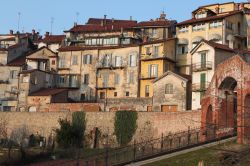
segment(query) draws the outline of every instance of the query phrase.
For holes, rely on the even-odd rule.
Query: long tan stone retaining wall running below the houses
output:
[[[0,112],[0,117],[8,121],[8,133],[22,126],[28,127],[30,133],[39,133],[49,137],[53,129],[59,127],[58,119],[71,119],[71,112]],[[93,142],[93,131],[100,131],[100,146],[108,140],[110,144],[116,144],[114,135],[115,112],[86,112],[86,140]],[[138,112],[137,131],[134,139],[137,142],[160,138],[162,134],[186,131],[188,128],[199,128],[201,113],[179,112]]]

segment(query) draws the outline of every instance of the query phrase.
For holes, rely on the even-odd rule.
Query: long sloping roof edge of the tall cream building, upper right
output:
[[[233,12],[229,12],[229,13],[223,14],[223,15],[215,15],[215,16],[210,16],[210,17],[205,17],[205,18],[200,18],[200,19],[192,18],[190,20],[186,20],[186,21],[178,23],[177,26],[186,25],[186,24],[193,24],[193,23],[198,23],[198,22],[204,22],[204,21],[223,19],[223,18],[232,16],[235,14],[239,14],[239,13],[242,13],[242,11],[233,11]]]

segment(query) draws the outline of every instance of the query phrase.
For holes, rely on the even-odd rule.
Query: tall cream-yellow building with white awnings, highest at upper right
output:
[[[224,3],[201,6],[192,12],[192,19],[177,24],[177,66],[183,74],[191,74],[190,51],[203,39],[247,48],[248,3]]]

